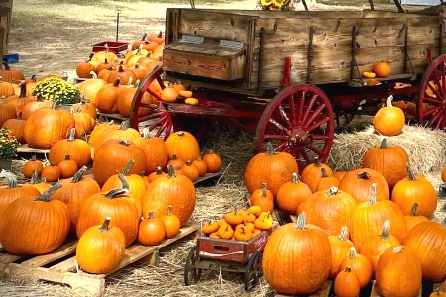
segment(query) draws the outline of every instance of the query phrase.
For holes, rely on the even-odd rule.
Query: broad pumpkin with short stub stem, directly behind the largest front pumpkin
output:
[[[321,227],[327,235],[338,235],[344,226],[350,228],[350,217],[356,206],[357,203],[350,194],[331,187],[328,191],[322,190],[311,195],[303,212],[306,213],[309,224]]]

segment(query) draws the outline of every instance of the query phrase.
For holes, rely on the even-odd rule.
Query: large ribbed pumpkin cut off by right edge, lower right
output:
[[[446,219],[441,223],[423,222],[412,228],[403,245],[420,260],[423,279],[440,282],[446,277]]]

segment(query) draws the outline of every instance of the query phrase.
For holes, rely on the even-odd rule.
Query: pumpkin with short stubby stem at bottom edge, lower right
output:
[[[398,273],[402,271],[410,271],[410,274]],[[395,279],[398,281],[389,281]],[[413,251],[403,246],[386,249],[376,266],[376,284],[383,296],[417,296],[421,266]]]

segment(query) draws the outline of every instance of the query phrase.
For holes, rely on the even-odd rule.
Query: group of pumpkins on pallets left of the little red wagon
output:
[[[71,234],[79,238],[76,257],[84,271],[112,271],[135,240],[158,245],[175,237],[195,208],[193,181],[221,166],[213,151],[200,158],[197,140],[184,131],[164,142],[147,129],[141,136],[128,122],[103,123],[89,137],[92,147],[73,135],[74,128],[51,148],[49,165],[35,158],[25,163],[31,182],[18,184],[6,174],[0,243],[8,252],[51,252]],[[85,175],[92,159],[93,178]]]

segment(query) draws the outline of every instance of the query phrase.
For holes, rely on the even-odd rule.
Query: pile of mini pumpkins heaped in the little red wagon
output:
[[[226,213],[224,219],[209,222],[201,229],[210,238],[236,241],[249,241],[273,227],[273,217],[269,212],[262,212],[260,206],[251,206],[246,210]]]

